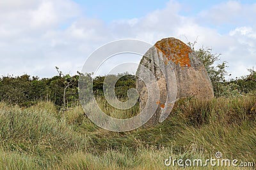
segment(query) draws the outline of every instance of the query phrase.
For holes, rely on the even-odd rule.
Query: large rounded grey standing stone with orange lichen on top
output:
[[[183,97],[198,97],[200,99],[211,99],[214,97],[212,83],[196,53],[191,48],[175,38],[164,38],[152,46],[140,61],[142,66],[147,67],[156,77],[160,101],[156,101],[158,108],[149,120],[148,124],[161,121],[161,114],[172,110],[174,103],[170,103],[170,95],[177,90],[176,100]],[[172,73],[175,73],[173,77]],[[140,77],[143,69],[138,67],[136,72]],[[175,78],[176,77],[176,78]],[[175,89],[173,79],[176,79]],[[168,87],[168,88],[167,88]],[[147,104],[147,87],[140,78],[136,80],[136,88],[140,95],[140,111]],[[171,107],[170,107],[171,106]],[[168,110],[169,108],[169,110]],[[168,114],[167,113],[167,116]],[[165,117],[166,118],[166,117]]]

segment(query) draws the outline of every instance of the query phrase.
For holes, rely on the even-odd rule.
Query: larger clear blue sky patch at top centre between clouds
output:
[[[162,9],[168,1],[82,1],[76,0],[83,7],[84,15],[100,18],[106,22],[112,20],[143,17],[150,11]]]

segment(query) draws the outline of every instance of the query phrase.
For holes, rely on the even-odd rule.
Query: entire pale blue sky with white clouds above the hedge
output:
[[[235,78],[256,69],[255,16],[255,1],[0,1],[0,73],[76,74],[109,41],[175,37],[222,53]]]

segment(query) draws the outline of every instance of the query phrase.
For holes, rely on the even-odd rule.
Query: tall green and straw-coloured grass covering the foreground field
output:
[[[98,101],[113,117],[138,113],[138,104],[118,111]],[[255,102],[256,96],[182,99],[162,124],[131,132],[100,129],[81,106],[63,112],[50,102],[29,108],[0,103],[0,169],[184,169],[164,160],[206,160],[216,152],[256,162]]]

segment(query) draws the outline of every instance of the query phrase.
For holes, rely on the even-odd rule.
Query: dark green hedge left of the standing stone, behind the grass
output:
[[[0,101],[19,106],[31,106],[38,101],[51,101],[60,108],[68,108],[78,104],[78,80],[79,75],[64,75],[56,67],[59,76],[52,78],[30,77],[28,74],[0,78]],[[135,76],[124,73],[115,85],[116,96],[127,97],[127,90],[135,88]],[[97,76],[93,80],[93,91],[95,96],[104,96],[103,83],[106,76]]]

